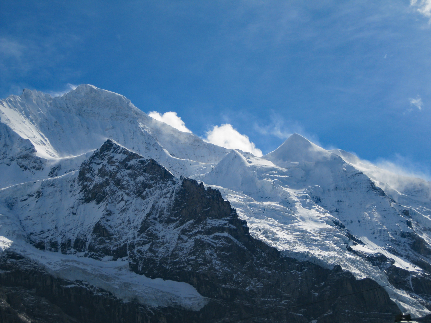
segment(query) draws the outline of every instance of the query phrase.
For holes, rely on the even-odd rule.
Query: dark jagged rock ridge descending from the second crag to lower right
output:
[[[282,257],[275,248],[250,236],[247,223],[238,218],[218,190],[205,189],[194,180],[182,180],[175,191],[171,210],[169,215],[159,217],[157,223],[181,228],[177,241],[169,240],[168,248],[167,241],[163,244],[160,237],[154,239],[153,233],[146,235],[149,229],[141,230],[141,240],[129,246],[131,269],[152,278],[190,283],[201,295],[211,299],[203,311],[210,311],[215,321],[244,317],[246,313],[261,314],[378,286],[369,279],[355,280],[340,267],[325,270],[308,262]],[[150,225],[144,223],[143,227],[150,228]],[[136,248],[146,242],[150,243],[146,250]],[[161,248],[166,251],[160,253]],[[387,313],[378,314],[382,320],[386,315],[387,320],[390,313],[397,311],[386,292],[378,289],[369,295],[365,293],[293,310],[297,314],[282,312],[260,320],[369,320],[371,316],[364,312]]]

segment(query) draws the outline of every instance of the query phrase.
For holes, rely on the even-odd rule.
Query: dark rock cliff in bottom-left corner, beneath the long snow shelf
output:
[[[50,276],[16,254],[0,257],[0,268],[1,323],[187,322],[187,311],[123,302],[86,283]]]

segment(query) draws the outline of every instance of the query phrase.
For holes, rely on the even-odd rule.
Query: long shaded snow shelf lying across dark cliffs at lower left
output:
[[[87,282],[111,292],[123,301],[137,301],[152,307],[180,306],[191,311],[199,311],[209,302],[208,298],[187,283],[151,279],[131,272],[126,259],[97,261],[76,255],[44,252],[30,245],[22,245],[21,248],[14,245],[12,250],[40,264],[53,276],[72,282]]]

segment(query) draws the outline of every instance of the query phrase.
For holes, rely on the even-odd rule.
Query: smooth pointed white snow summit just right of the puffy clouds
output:
[[[277,162],[316,162],[328,159],[331,152],[310,142],[299,134],[293,134],[273,152],[263,158]]]

